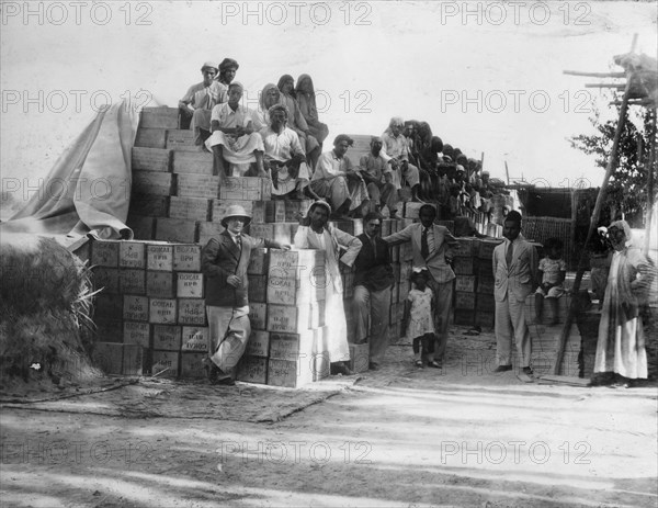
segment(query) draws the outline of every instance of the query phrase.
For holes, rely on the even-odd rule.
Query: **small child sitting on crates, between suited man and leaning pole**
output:
[[[535,292],[535,317],[537,323],[542,321],[544,298],[551,305],[552,325],[558,323],[557,298],[565,293],[563,283],[567,275],[567,263],[563,259],[563,248],[564,244],[559,238],[548,238],[544,244],[546,256],[540,261],[538,276],[541,283]]]

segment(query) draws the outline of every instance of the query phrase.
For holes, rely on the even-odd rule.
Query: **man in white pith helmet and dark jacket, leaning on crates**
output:
[[[290,245],[253,238],[242,233],[251,215],[240,205],[231,205],[222,218],[226,228],[211,238],[202,251],[201,269],[205,279],[206,313],[209,325],[209,371],[214,384],[235,384],[235,366],[242,358],[251,325],[247,298],[247,266],[253,249],[270,247],[290,250]]]

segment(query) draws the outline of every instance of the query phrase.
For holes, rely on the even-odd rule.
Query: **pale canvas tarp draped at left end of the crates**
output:
[[[128,100],[100,111],[1,233],[132,238],[131,149],[139,115]]]

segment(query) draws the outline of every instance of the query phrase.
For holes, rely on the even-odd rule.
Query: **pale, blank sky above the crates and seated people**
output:
[[[251,2],[247,18],[245,2],[24,5],[2,2],[0,157],[3,179],[30,185],[91,121],[92,95],[141,90],[140,103],[174,106],[204,60],[229,56],[251,105],[266,82],[309,74],[318,106],[329,99],[329,139],[424,120],[466,155],[484,151],[492,177],[507,160],[512,178],[597,187],[602,171],[566,138],[591,132],[599,90],[563,70],[610,69],[634,33],[639,52],[658,46],[655,2]]]

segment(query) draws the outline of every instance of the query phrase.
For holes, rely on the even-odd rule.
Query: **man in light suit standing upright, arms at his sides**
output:
[[[506,240],[494,249],[494,297],[496,298],[496,352],[498,368],[494,372],[512,370],[512,335],[523,373],[532,375],[532,343],[525,320],[525,298],[536,289],[537,253],[523,238],[521,214],[510,212],[503,223]]]

